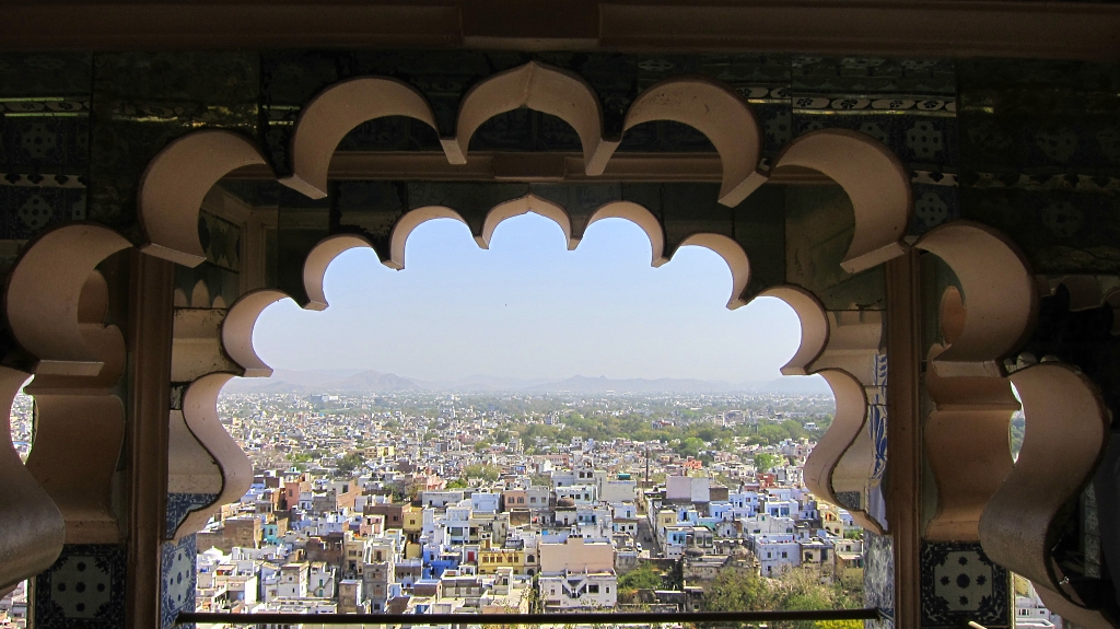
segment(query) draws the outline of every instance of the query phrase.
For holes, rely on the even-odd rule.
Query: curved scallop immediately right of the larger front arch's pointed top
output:
[[[716,147],[724,167],[719,203],[735,207],[765,181],[757,173],[762,158],[758,121],[750,105],[732,87],[699,77],[678,77],[657,83],[631,104],[623,133],[655,120],[688,124],[703,133]],[[601,175],[620,143],[622,138],[600,142],[587,162],[587,173]]]

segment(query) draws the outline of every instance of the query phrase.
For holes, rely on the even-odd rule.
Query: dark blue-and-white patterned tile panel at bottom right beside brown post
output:
[[[922,545],[922,627],[1011,626],[1009,573],[976,543]]]

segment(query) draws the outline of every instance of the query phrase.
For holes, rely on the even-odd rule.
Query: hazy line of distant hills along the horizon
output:
[[[729,383],[690,378],[624,378],[572,376],[523,379],[503,376],[469,376],[452,382],[430,382],[361,369],[277,369],[271,378],[234,378],[226,393],[390,393],[399,391],[532,392],[532,393],[831,393],[820,376],[788,376],[768,382]]]

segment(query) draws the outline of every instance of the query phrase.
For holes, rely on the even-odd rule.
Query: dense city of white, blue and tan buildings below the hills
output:
[[[24,456],[31,409],[12,413]],[[864,532],[803,482],[829,395],[272,392],[218,410],[254,479],[196,536],[197,611],[862,607]]]

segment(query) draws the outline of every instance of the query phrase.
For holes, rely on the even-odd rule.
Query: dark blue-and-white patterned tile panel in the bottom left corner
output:
[[[35,578],[36,629],[123,628],[127,571],[124,546],[66,544]]]

